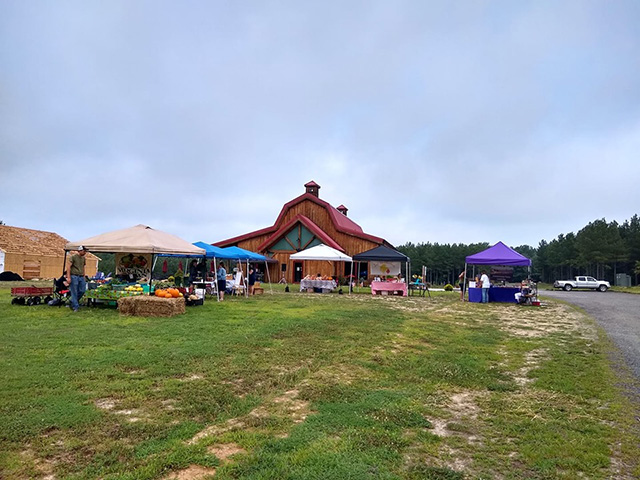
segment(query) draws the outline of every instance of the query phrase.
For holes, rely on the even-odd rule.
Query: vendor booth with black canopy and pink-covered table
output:
[[[379,278],[371,282],[372,295],[407,296],[407,281],[409,278],[409,257],[393,248],[380,245],[379,247],[358,253],[353,256],[354,262],[368,262],[368,276]],[[402,264],[405,264],[405,281],[399,282],[397,277],[401,275]],[[387,277],[393,277],[393,281],[385,281]],[[357,277],[360,278],[360,264],[358,264]]]

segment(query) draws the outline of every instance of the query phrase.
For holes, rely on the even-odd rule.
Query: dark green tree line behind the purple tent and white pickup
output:
[[[486,242],[465,244],[439,244],[408,242],[398,250],[411,259],[411,275],[420,275],[427,267],[426,281],[432,284],[455,284],[464,270],[465,258],[481,252],[490,245]],[[560,234],[537,247],[512,247],[531,259],[531,276],[545,283],[575,275],[592,275],[599,280],[615,283],[616,275],[627,274],[633,285],[640,276],[640,217],[634,215],[622,224],[594,220],[578,233]],[[473,269],[473,267],[470,267]],[[477,271],[477,267],[476,267]],[[468,275],[471,271],[468,272]],[[515,267],[513,280],[519,281],[529,274],[525,267]]]

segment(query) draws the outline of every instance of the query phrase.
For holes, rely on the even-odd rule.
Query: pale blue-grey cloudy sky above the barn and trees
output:
[[[0,2],[0,220],[215,242],[314,180],[365,232],[640,213],[640,2]]]

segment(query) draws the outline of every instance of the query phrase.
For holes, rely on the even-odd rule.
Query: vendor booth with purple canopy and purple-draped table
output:
[[[464,285],[467,285],[467,265],[487,265],[499,267],[525,266],[531,267],[531,260],[519,254],[514,249],[502,242],[498,242],[492,247],[466,257]],[[489,288],[489,302],[516,303],[516,293],[520,293],[520,286],[510,286],[505,281],[495,283],[495,276],[504,274],[504,270],[495,270],[491,287]],[[476,286],[475,282],[469,282],[469,301],[480,303],[482,301],[482,288]]]

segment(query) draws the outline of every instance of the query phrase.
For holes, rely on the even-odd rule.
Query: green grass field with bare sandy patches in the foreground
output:
[[[284,293],[174,318],[10,305],[0,478],[638,478],[611,345],[562,303]]]

